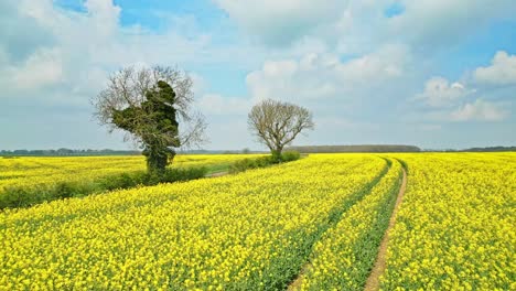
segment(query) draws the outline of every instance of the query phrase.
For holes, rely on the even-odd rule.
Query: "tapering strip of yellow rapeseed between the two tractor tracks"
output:
[[[315,244],[302,276],[302,290],[363,289],[401,183],[401,164],[390,162],[389,172],[370,193]]]

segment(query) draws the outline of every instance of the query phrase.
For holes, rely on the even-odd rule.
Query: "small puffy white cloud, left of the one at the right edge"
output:
[[[417,95],[416,99],[423,100],[431,107],[448,107],[467,96],[467,90],[463,84],[450,82],[443,77],[432,77],[424,84],[424,91]]]

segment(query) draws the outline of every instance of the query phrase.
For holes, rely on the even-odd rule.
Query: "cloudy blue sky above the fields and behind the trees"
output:
[[[514,0],[1,0],[0,149],[127,149],[89,99],[123,66],[194,79],[206,149],[261,149],[264,98],[310,108],[295,144],[516,146]]]

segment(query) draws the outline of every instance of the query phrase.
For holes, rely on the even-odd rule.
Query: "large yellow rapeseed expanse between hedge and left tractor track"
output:
[[[374,155],[316,155],[4,211],[0,289],[284,289],[329,217],[386,166]]]

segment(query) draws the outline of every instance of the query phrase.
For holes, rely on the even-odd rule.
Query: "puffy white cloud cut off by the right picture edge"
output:
[[[508,55],[504,51],[497,52],[491,66],[475,69],[474,78],[479,83],[490,85],[516,84],[516,55]]]

